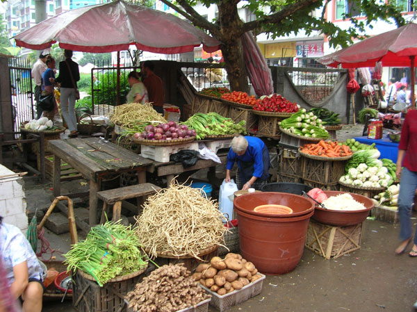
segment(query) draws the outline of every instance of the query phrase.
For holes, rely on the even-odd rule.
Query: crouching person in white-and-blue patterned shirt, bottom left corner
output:
[[[14,299],[22,299],[24,312],[42,311],[43,270],[23,233],[0,217],[0,257]]]

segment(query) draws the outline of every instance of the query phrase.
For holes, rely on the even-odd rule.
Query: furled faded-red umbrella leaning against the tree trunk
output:
[[[254,35],[247,32],[242,36],[243,57],[247,74],[252,82],[256,95],[270,95],[274,92],[271,71],[265,58],[254,40]]]

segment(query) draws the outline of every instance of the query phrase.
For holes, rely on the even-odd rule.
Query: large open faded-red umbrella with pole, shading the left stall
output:
[[[104,53],[129,49],[177,54],[220,49],[220,42],[186,20],[170,13],[115,1],[61,13],[14,37],[19,47],[43,50],[59,42],[62,49]],[[120,91],[120,58],[117,54],[117,93]],[[119,96],[117,95],[117,101]]]

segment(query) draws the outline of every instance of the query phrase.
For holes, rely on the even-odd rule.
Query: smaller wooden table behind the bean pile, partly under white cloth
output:
[[[218,156],[220,161],[222,161],[222,164],[227,162],[227,153]],[[206,159],[199,159],[195,165],[188,168],[184,168],[181,163],[174,163],[173,161],[170,161],[169,163],[153,161],[152,165],[147,167],[147,171],[154,173],[157,176],[166,176],[167,186],[170,186],[170,183],[175,176],[186,171],[208,168],[209,177],[215,176],[215,167],[218,165],[220,165],[220,163],[215,163],[214,161]]]

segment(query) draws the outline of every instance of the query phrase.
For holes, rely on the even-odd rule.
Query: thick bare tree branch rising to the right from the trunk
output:
[[[241,31],[242,33],[246,33],[247,31],[252,31],[256,28],[263,28],[265,24],[276,24],[287,17],[291,17],[294,13],[297,13],[297,11],[302,10],[303,8],[309,8],[310,6],[313,6],[314,4],[321,3],[320,0],[301,0],[297,1],[295,3],[289,4],[288,6],[285,6],[277,13],[274,13],[272,15],[267,15],[264,17],[261,17],[260,19],[255,19],[252,22],[247,22],[243,24]]]

